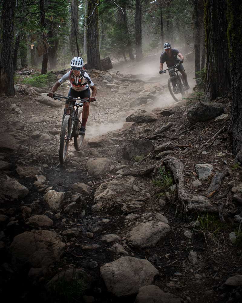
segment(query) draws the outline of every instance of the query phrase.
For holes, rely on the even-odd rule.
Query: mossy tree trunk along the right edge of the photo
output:
[[[230,138],[233,144],[233,154],[242,152],[242,52],[241,20],[242,4],[237,0],[228,1],[228,45],[231,60],[232,80],[232,112],[229,125]],[[240,152],[240,153],[241,153]]]

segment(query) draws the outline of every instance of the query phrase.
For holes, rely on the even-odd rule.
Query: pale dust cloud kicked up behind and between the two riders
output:
[[[159,54],[157,53],[155,55],[150,55],[149,57],[144,58],[140,62],[128,61],[126,63],[114,64],[113,71],[112,70],[110,71],[110,72],[119,71],[119,73],[123,75],[133,75],[132,78],[143,80],[147,84],[154,84],[154,83],[162,84],[165,87],[165,89],[164,92],[160,93],[159,99],[155,102],[148,102],[147,104],[140,105],[136,108],[129,108],[125,111],[125,114],[123,112],[123,108],[120,108],[120,111],[117,112],[115,116],[107,115],[107,117],[104,118],[102,124],[98,124],[93,121],[93,124],[87,127],[87,131],[86,131],[87,138],[104,135],[109,131],[114,131],[122,128],[123,124],[125,123],[125,118],[131,112],[135,111],[137,108],[144,109],[147,112],[152,112],[154,108],[172,107],[176,105],[181,105],[182,101],[178,103],[175,102],[175,100],[172,98],[172,96],[168,91],[167,81],[169,78],[169,74],[168,73],[162,75],[159,74],[160,54],[161,52]],[[195,86],[195,80],[193,79],[194,64],[190,62],[186,62],[185,60],[183,66],[188,75],[188,83],[191,88],[189,90],[189,93],[191,93],[192,88]],[[166,69],[166,65],[164,65],[164,68]],[[132,86],[134,88],[139,87],[140,91],[142,91],[144,84],[145,83],[138,82],[138,83],[132,83]],[[137,92],[137,97],[138,95],[139,92]],[[156,96],[158,96],[158,94],[156,94]],[[112,121],[110,122],[110,120],[113,120],[115,122]]]

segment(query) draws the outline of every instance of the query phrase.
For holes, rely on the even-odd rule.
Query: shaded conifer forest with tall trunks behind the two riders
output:
[[[232,94],[229,132],[234,155],[242,153],[238,1],[2,0],[0,9],[0,93],[15,95],[19,68],[46,74],[81,56],[88,68],[103,70],[101,58],[141,61],[169,41],[194,52],[197,87],[206,101]]]

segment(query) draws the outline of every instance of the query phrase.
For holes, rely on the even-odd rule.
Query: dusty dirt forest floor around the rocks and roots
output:
[[[162,135],[152,138],[151,141],[154,147],[168,142],[175,145],[190,145],[190,147],[176,147],[171,154],[185,166],[184,183],[189,195],[204,196],[212,176],[215,172],[223,172],[225,167],[230,173],[221,181],[216,194],[210,198],[212,205],[218,210],[220,205],[226,204],[231,188],[241,187],[242,168],[236,165],[227,143],[226,129],[230,119],[231,100],[229,98],[219,100],[226,106],[228,117],[191,125],[186,114],[198,100],[190,96],[176,103],[167,89],[168,74],[158,74],[157,60],[159,62],[158,56],[154,56],[142,65],[129,62],[123,66],[115,66],[109,71],[113,77],[110,83],[116,84],[113,88],[108,87],[103,81],[108,72],[90,71],[90,76],[97,86],[97,102],[90,104],[82,151],[75,151],[74,144],[71,142],[64,166],[59,165],[58,159],[64,103],[60,108],[41,104],[37,101],[39,93],[33,91],[29,95],[16,92],[13,98],[1,97],[3,149],[0,159],[8,164],[6,166],[1,162],[1,184],[7,175],[29,190],[28,195],[17,200],[11,199],[6,192],[2,193],[0,209],[2,298],[7,295],[9,299],[18,299],[20,302],[33,299],[37,302],[43,299],[52,302],[62,300],[74,302],[77,299],[79,302],[94,300],[134,302],[137,291],[125,299],[117,297],[111,294],[108,283],[106,280],[104,282],[104,278],[100,275],[101,266],[129,255],[148,260],[159,271],[153,284],[175,296],[171,296],[169,302],[241,302],[241,276],[240,284],[237,286],[224,284],[229,277],[242,275],[241,247],[233,245],[229,237],[229,234],[240,226],[234,221],[233,216],[240,215],[241,205],[235,207],[232,202],[231,205],[227,205],[227,210],[230,211],[227,212],[223,223],[219,219],[219,211],[182,211],[176,189],[161,189],[159,182],[152,182],[152,179],[162,174],[166,174],[169,178],[167,172],[159,172],[165,156],[160,159],[155,158],[153,150],[146,157],[137,154],[136,156],[141,158],[135,167],[133,156],[130,161],[123,156],[123,150],[132,146],[134,140],[151,139],[157,129],[170,122],[172,127],[162,132]],[[193,68],[184,65],[192,87],[194,86]],[[131,82],[129,79],[140,79],[142,82]],[[139,96],[139,92],[147,88],[147,84],[149,88],[157,88],[153,94],[156,98],[148,99],[146,104],[130,107]],[[69,86],[62,85],[57,93],[67,95],[68,90]],[[192,92],[192,89],[189,92]],[[22,113],[17,114],[15,110],[9,110],[11,104],[17,105]],[[173,114],[163,116],[160,112],[164,108],[169,108]],[[137,109],[146,110],[154,115],[156,120],[125,124],[126,117]],[[16,119],[24,124],[16,122]],[[212,141],[214,143],[217,140],[217,144],[207,145],[202,149],[202,153],[199,152],[201,144],[207,142],[224,126],[226,126],[225,130]],[[36,136],[33,135],[34,132]],[[42,134],[46,136],[40,139]],[[97,136],[99,137],[96,138]],[[11,146],[4,148],[4,144]],[[223,154],[218,156],[220,153]],[[98,175],[91,174],[87,162],[92,158],[101,158],[101,162],[106,161],[108,168]],[[198,179],[195,165],[204,163],[213,165],[213,175],[200,180],[200,187],[194,187],[193,182]],[[150,174],[143,173],[152,165],[154,167]],[[30,176],[26,174],[26,168],[31,168]],[[132,168],[137,169],[135,174],[129,173]],[[44,175],[46,178],[38,186],[34,184],[37,180],[36,175]],[[116,191],[113,189],[113,184],[104,182],[106,179],[107,182],[116,181]],[[170,179],[169,185],[172,183],[178,185],[176,180]],[[73,186],[75,183],[88,185],[87,192],[79,191]],[[64,201],[57,210],[47,209],[46,202],[43,200],[43,196],[50,189],[64,192]],[[109,195],[105,191],[107,189],[112,191]],[[135,203],[129,204],[130,200]],[[103,204],[97,205],[98,202]],[[73,210],[68,211],[66,207],[70,203],[76,205],[74,204]],[[24,208],[25,206],[28,209]],[[155,245],[146,243],[143,248],[134,245],[135,241],[130,236],[130,232],[135,227],[141,223],[156,224],[159,221],[167,223],[166,219],[158,214],[168,220],[169,231],[160,236]],[[42,225],[34,221],[31,223],[29,217],[33,215],[45,215],[53,221],[53,224],[44,226],[44,223]],[[49,230],[63,236],[64,231],[77,228],[74,230],[76,233],[73,231],[64,236],[65,246],[60,258],[56,257],[47,271],[40,270],[38,274],[33,274],[33,271],[41,266],[33,265],[30,255],[23,257],[23,248],[17,246],[12,248],[11,245],[14,237],[32,231],[33,228],[38,231]],[[103,236],[108,234],[115,234],[118,237],[114,237],[108,243],[103,240]],[[114,243],[118,243],[119,246],[114,246]],[[27,245],[25,248],[30,246]],[[188,258],[191,251],[196,253],[197,260]],[[36,248],[36,254],[38,253],[41,256],[41,252]],[[18,254],[21,258],[19,257],[16,263]],[[19,266],[20,261],[24,266]],[[47,294],[46,282],[56,273],[70,266],[83,268],[91,277],[91,287],[84,288],[81,295],[78,293],[77,297],[74,294],[68,298],[63,293],[62,296],[60,293]],[[123,279],[126,279],[125,274]],[[120,280],[122,277],[116,283]],[[122,285],[124,282],[120,283]],[[86,297],[83,297],[83,294]],[[163,301],[156,299],[155,302],[168,302],[165,299],[162,299]],[[137,299],[136,301],[145,302]]]

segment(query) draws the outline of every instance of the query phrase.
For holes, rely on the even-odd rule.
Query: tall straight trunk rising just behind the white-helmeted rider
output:
[[[99,4],[99,0],[96,0]],[[96,7],[96,8],[95,8]],[[95,8],[95,9],[94,9]],[[91,0],[88,0],[89,25],[87,28],[87,64],[88,68],[103,71],[100,62],[99,43],[98,43],[98,6]]]

